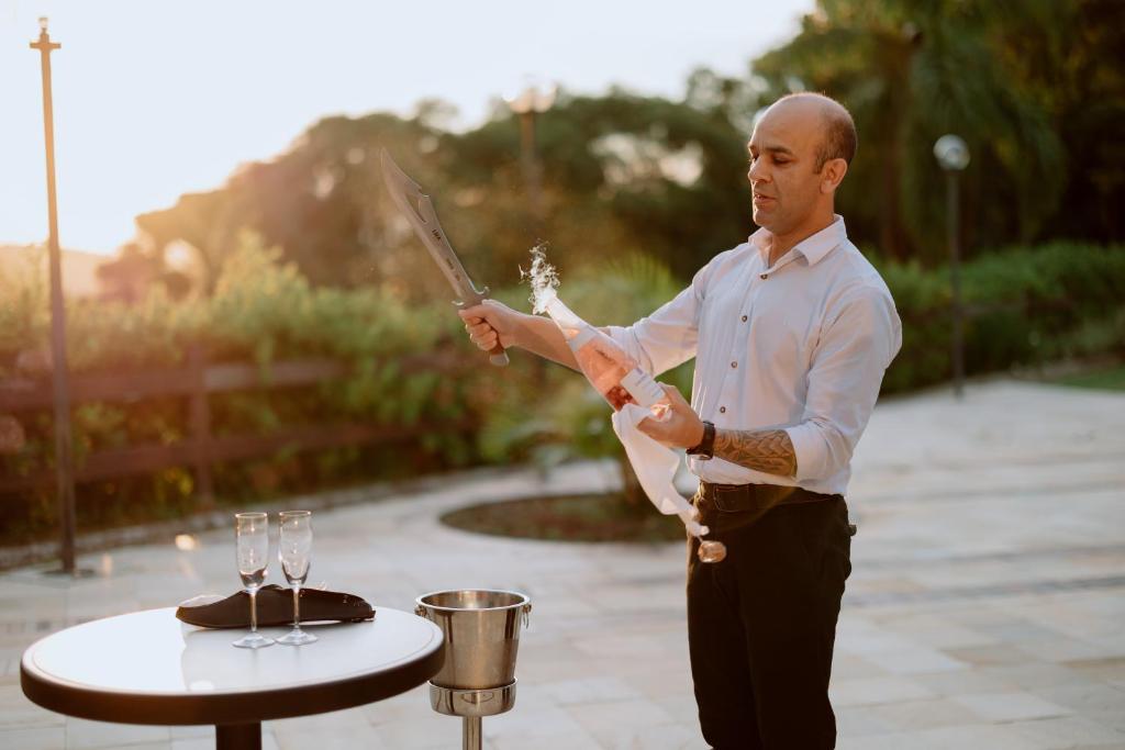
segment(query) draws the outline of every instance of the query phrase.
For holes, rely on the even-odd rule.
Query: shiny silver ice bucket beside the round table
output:
[[[531,599],[519,591],[461,589],[417,599],[414,612],[444,633],[446,665],[430,681],[454,690],[483,690],[515,680],[520,629]]]

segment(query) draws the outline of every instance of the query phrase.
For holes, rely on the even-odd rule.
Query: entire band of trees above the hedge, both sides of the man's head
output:
[[[644,252],[688,278],[752,231],[745,141],[778,96],[824,91],[853,111],[860,151],[838,196],[853,240],[899,262],[942,262],[948,132],[966,138],[970,256],[1052,238],[1125,240],[1125,42],[1119,0],[819,0],[793,38],[745,76],[705,69],[682,101],[619,89],[560,92],[534,120],[543,217],[530,208],[519,117],[467,132],[443,106],[414,117],[330,117],[226,184],[137,219],[150,252],[196,250],[204,289],[249,227],[313,286],[446,296],[382,183],[387,148],[432,196],[467,268],[516,282],[550,240],[569,266]]]

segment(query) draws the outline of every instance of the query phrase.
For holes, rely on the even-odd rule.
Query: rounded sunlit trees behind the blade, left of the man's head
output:
[[[519,121],[508,112],[465,134],[424,115],[327,118],[276,160],[137,225],[158,252],[173,242],[195,247],[210,271],[207,289],[250,227],[315,286],[393,284],[414,299],[446,297],[386,192],[379,152],[387,148],[432,196],[474,277],[495,286],[516,283],[518,265],[543,237],[572,268],[644,249],[683,277],[749,234],[745,138],[726,119],[612,92],[564,93],[538,123],[543,223],[529,209]]]

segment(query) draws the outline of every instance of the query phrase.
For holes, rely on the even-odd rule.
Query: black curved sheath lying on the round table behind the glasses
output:
[[[225,599],[197,596],[182,602],[177,618],[201,627],[250,627],[250,595],[238,591]],[[362,597],[317,588],[300,589],[300,622],[361,622],[375,617]],[[258,624],[292,624],[292,589],[270,584],[258,589]]]

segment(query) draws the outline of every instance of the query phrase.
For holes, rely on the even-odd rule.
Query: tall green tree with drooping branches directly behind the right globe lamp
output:
[[[892,257],[942,255],[932,147],[944,133],[973,152],[966,226],[979,244],[1034,238],[1058,204],[1060,139],[990,36],[1005,12],[982,0],[820,0],[796,37],[753,63],[766,101],[813,90],[852,110],[861,145],[839,205],[853,234]]]

